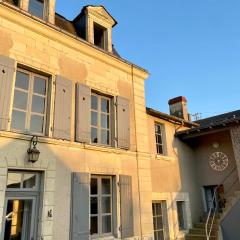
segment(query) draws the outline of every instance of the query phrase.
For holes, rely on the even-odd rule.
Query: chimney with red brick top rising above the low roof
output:
[[[170,114],[189,121],[189,114],[187,110],[187,99],[183,96],[170,99],[168,101]]]

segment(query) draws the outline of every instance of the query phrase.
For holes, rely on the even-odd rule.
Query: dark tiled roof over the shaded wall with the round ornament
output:
[[[176,133],[179,137],[191,136],[197,132],[209,131],[212,129],[221,129],[231,124],[240,123],[240,110],[224,113],[221,115],[205,118],[196,121],[199,124],[198,127],[191,128],[189,130],[180,131]]]

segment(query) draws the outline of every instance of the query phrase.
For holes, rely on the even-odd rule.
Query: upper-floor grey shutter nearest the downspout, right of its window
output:
[[[119,148],[130,147],[129,100],[120,96],[117,97],[117,142]]]

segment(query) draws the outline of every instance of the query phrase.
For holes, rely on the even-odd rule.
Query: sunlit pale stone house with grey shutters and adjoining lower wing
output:
[[[113,47],[116,24],[103,6],[69,21],[54,0],[0,0],[1,240],[198,237],[238,170],[240,113],[146,109],[148,72]]]

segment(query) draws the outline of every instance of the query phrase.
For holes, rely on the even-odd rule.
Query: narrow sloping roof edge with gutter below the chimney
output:
[[[146,111],[147,111],[147,114],[148,114],[148,115],[151,115],[151,116],[153,116],[153,117],[166,120],[166,121],[168,121],[168,122],[177,123],[177,124],[179,124],[179,125],[184,125],[184,126],[186,126],[186,127],[197,127],[197,126],[198,126],[198,123],[186,121],[186,120],[184,120],[184,119],[182,119],[182,118],[178,118],[178,117],[175,117],[175,116],[172,116],[172,115],[163,113],[163,112],[159,112],[159,111],[154,110],[154,109],[152,109],[152,108],[148,108],[148,107],[147,107],[147,108],[146,108]]]

